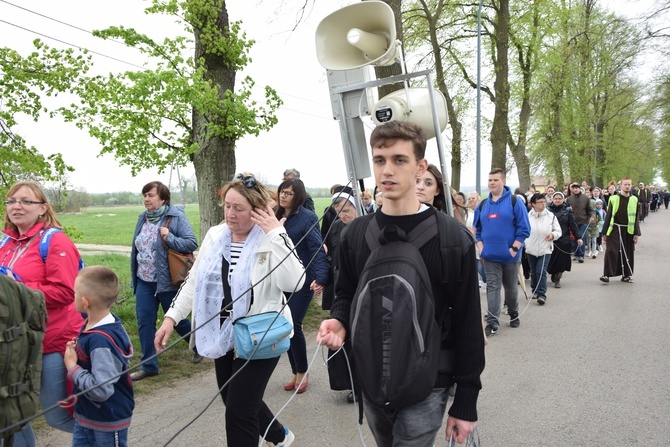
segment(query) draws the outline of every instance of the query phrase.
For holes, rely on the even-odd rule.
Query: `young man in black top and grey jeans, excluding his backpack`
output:
[[[423,132],[414,124],[392,121],[375,128],[370,146],[375,179],[384,196],[381,212],[375,213],[379,227],[397,225],[409,233],[436,212],[434,208],[421,204],[415,194],[416,178],[428,166],[424,159],[426,139]],[[317,334],[317,341],[331,349],[338,349],[350,330],[351,303],[361,269],[370,255],[362,235],[371,217],[361,217],[349,224],[340,242],[340,273],[331,318],[322,322]],[[453,219],[448,222],[458,225]],[[365,416],[379,446],[400,445],[397,442],[401,439],[404,441],[402,445],[432,446],[442,425],[448,387],[454,382],[458,387],[449,409],[446,438],[449,439],[453,431],[457,441],[463,443],[475,429],[480,375],[484,369],[484,336],[475,245],[465,227],[462,227],[460,235],[462,256],[457,281],[442,281],[445,260],[440,251],[439,235],[420,249],[430,277],[435,315],[445,315],[445,307],[451,308],[450,324],[438,323],[444,332],[449,332],[443,344],[455,349],[455,372],[453,376],[438,375],[433,392],[428,397],[400,410],[374,405],[365,399]],[[396,444],[393,444],[394,440]]]

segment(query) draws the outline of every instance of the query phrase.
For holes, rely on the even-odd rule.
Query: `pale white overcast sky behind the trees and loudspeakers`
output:
[[[278,183],[282,171],[294,167],[301,171],[301,177],[308,187],[330,187],[334,183],[346,183],[347,178],[339,127],[332,119],[325,70],[316,59],[314,31],[323,17],[353,1],[315,1],[313,9],[309,9],[297,29],[291,31],[296,23],[297,6],[304,3],[304,0],[227,2],[231,21],[241,20],[247,37],[256,40],[251,52],[253,62],[243,75],[252,76],[259,89],[271,85],[284,101],[277,114],[279,123],[271,131],[238,142],[237,171],[251,171],[267,182]],[[642,2],[645,3],[648,2]],[[96,73],[136,69],[132,64],[142,66],[145,62],[138,51],[115,42],[96,39],[68,25],[84,30],[123,25],[134,27],[154,38],[180,32],[170,17],[146,16],[143,10],[148,4],[139,0],[0,0],[0,46],[11,47],[25,54],[31,50],[32,40],[41,38],[56,48],[67,48],[67,44],[74,44],[100,53],[93,54]],[[603,1],[603,4],[629,13],[632,12],[631,6],[633,10],[642,8],[641,3],[635,0],[610,0]],[[628,6],[622,7],[622,4]],[[274,9],[276,5],[280,6]],[[238,74],[238,83],[243,75]],[[474,123],[468,123],[467,126],[473,129]],[[21,120],[21,125],[15,131],[43,153],[62,153],[65,161],[76,169],[70,176],[71,183],[90,193],[140,191],[151,180],[169,182],[169,171],[162,175],[158,175],[155,170],[143,171],[139,176],[131,177],[130,168],[120,167],[111,155],[97,157],[100,145],[96,140],[58,119],[45,117],[37,124]],[[483,129],[484,186],[490,164],[487,139],[488,130]],[[472,140],[466,144],[471,148],[471,153],[466,155],[461,184],[474,185],[475,144]],[[438,164],[434,140],[429,144],[427,158]],[[191,167],[181,168],[180,172],[182,176],[193,176]],[[511,182],[516,183],[515,180]],[[176,172],[172,180],[172,184],[175,183]],[[366,186],[372,188],[374,185],[371,180],[367,180]]]

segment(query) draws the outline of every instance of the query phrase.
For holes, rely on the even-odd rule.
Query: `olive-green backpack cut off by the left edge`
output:
[[[47,318],[44,295],[0,273],[0,439],[12,445],[39,404],[42,340]]]

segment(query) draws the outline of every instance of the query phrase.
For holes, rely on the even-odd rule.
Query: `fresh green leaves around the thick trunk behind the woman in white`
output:
[[[205,57],[223,58],[227,66],[240,70],[250,62],[253,41],[246,39],[237,22],[219,29],[222,8],[225,4],[213,0],[154,1],[147,12],[183,17],[186,30],[196,36],[196,47],[204,48]],[[204,59],[184,56],[194,45],[191,38],[176,36],[159,42],[122,26],[94,34],[137,48],[156,68],[87,77],[76,89],[81,103],[60,112],[87,129],[102,144],[102,153],[113,154],[133,174],[149,167],[162,172],[192,162],[200,150],[197,131],[203,131],[205,138],[234,141],[243,135],[258,135],[277,122],[274,113],[282,102],[272,88],[265,88],[265,106],[253,99],[254,82],[249,77],[236,91],[225,89],[208,75]],[[197,131],[193,112],[207,118]]]

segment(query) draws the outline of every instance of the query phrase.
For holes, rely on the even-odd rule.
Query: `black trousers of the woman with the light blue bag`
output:
[[[246,362],[234,358],[235,351],[214,360],[216,383],[219,389]],[[226,438],[231,447],[257,447],[259,437],[265,434],[266,441],[276,444],[285,437],[284,426],[275,420],[272,411],[263,402],[263,394],[270,376],[279,363],[279,357],[266,360],[251,360],[244,370],[221,390],[226,406]]]

